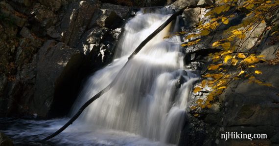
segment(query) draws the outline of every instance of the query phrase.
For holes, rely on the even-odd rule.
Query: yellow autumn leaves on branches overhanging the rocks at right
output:
[[[211,91],[206,99],[199,99],[196,102],[197,105],[191,107],[192,109],[198,107],[210,108],[210,102],[221,94],[233,80],[248,78],[248,83],[271,86],[269,83],[263,83],[257,80],[247,70],[247,68],[255,68],[256,63],[260,61],[266,62],[262,59],[264,56],[257,56],[249,52],[240,52],[240,49],[243,42],[246,41],[250,36],[249,34],[254,31],[257,25],[266,23],[266,18],[276,14],[276,10],[279,7],[279,0],[242,0],[240,3],[237,2],[238,0],[216,0],[215,5],[209,7],[211,10],[205,14],[208,20],[198,23],[196,31],[199,33],[187,35],[185,38],[186,40],[191,40],[207,36],[213,33],[221,24],[229,24],[230,19],[235,17],[233,15],[235,10],[246,9],[243,13],[246,13],[247,17],[240,24],[231,26],[224,31],[221,40],[212,43],[212,47],[219,48],[221,51],[209,54],[208,57],[212,59],[213,64],[208,66],[208,73],[203,76],[202,82],[194,88],[194,93],[203,91],[206,86],[210,87]],[[199,41],[200,39],[197,41],[189,41],[182,44],[182,46],[194,45]],[[235,67],[238,72],[229,73],[228,70],[231,67]],[[254,74],[262,74],[262,72],[256,70]]]

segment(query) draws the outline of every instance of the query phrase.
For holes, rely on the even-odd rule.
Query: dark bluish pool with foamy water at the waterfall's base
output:
[[[37,120],[34,118],[0,118],[0,132],[9,136],[15,146],[174,146],[139,135],[88,125],[78,121],[56,137],[41,141],[64,125],[69,118]]]

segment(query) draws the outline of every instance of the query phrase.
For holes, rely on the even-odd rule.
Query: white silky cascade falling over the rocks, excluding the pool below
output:
[[[161,13],[161,14],[160,14]],[[116,77],[128,56],[170,15],[138,12],[125,25],[113,63],[95,72],[75,102],[74,114],[87,100]],[[93,102],[79,118],[87,129],[96,125],[127,131],[161,143],[177,144],[184,123],[187,99],[198,76],[183,64],[178,21],[148,42],[117,76],[116,83]],[[180,86],[179,82],[183,82]]]

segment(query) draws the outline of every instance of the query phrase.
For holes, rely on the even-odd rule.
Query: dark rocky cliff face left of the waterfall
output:
[[[98,0],[0,0],[0,116],[67,114],[131,14]]]

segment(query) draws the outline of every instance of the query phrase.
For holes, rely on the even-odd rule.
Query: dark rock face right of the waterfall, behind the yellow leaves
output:
[[[180,1],[180,0],[178,0]],[[174,3],[174,7],[183,4]],[[183,1],[183,0],[182,0]],[[199,1],[202,2],[203,0]],[[176,5],[175,5],[176,4]],[[204,8],[187,9],[182,15],[185,25],[184,30],[190,30],[204,14]],[[236,25],[246,16],[235,13],[235,19],[230,25]],[[277,15],[277,18],[279,15]],[[275,27],[278,27],[277,21]],[[210,109],[193,110],[188,109],[188,123],[186,123],[179,146],[278,146],[279,145],[279,35],[271,36],[271,30],[267,31],[260,41],[257,36],[265,28],[264,24],[257,26],[252,32],[250,39],[241,47],[241,51],[256,44],[253,53],[265,55],[267,62],[258,64],[262,74],[256,78],[264,83],[271,83],[271,86],[248,83],[245,80],[236,80],[213,102]],[[210,49],[213,42],[221,39],[223,31],[228,27],[221,26],[214,35],[202,38],[197,45],[186,47],[186,66],[199,69],[205,73],[207,65],[211,62],[207,59],[209,53],[218,52],[218,49]],[[278,28],[277,28],[278,29]],[[212,52],[213,51],[213,52]],[[235,72],[236,70],[232,70]],[[252,72],[254,72],[252,70]],[[195,105],[197,99],[206,98],[207,92],[193,93],[189,106]],[[199,116],[194,117],[194,114]],[[267,139],[221,139],[221,133],[263,133]]]

